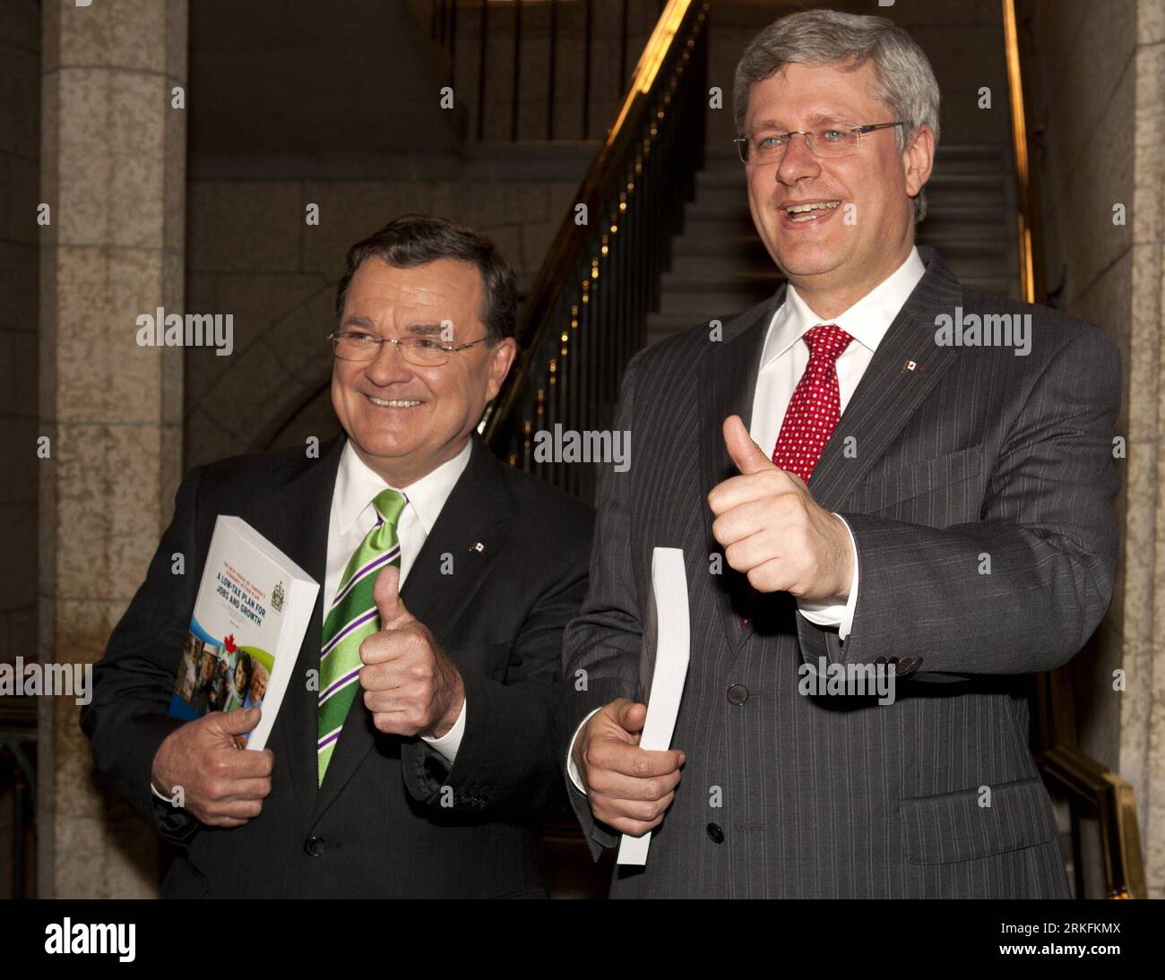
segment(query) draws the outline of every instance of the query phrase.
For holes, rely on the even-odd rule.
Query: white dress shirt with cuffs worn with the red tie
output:
[[[877,346],[885,336],[890,324],[894,322],[895,317],[898,315],[925,272],[926,267],[918,255],[918,249],[912,248],[906,261],[890,276],[843,313],[831,318],[818,317],[792,285],[785,289],[785,301],[772,314],[764,338],[764,347],[761,350],[761,368],[756,377],[756,391],[753,395],[753,421],[749,426],[749,435],[753,441],[769,459],[772,459],[772,450],[777,446],[781,424],[784,421],[793,391],[809,364],[809,345],[802,341],[805,332],[818,324],[836,324],[854,339],[841,351],[836,361],[838,388],[841,412],[843,413],[857,388],[857,382],[862,379],[862,375],[866,374],[866,369],[874,358],[874,351],[877,350]],[[845,518],[842,518],[842,523],[845,523]],[[848,524],[846,530],[849,531]],[[818,626],[836,626],[838,637],[842,640],[849,635],[849,629],[854,622],[854,606],[857,602],[857,545],[854,542],[852,531],[849,532],[849,546],[854,555],[854,577],[849,585],[848,601],[845,603],[797,603],[802,616],[810,623]],[[595,711],[598,710],[595,709]],[[592,711],[579,723],[574,731],[574,738],[578,738],[582,725],[594,713]],[[571,747],[566,753],[566,772],[578,790],[586,793],[572,758],[573,750],[574,739],[571,739]]]

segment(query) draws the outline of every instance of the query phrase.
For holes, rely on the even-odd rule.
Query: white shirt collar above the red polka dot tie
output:
[[[761,369],[777,360],[792,347],[811,327],[818,324],[836,324],[862,347],[877,350],[877,346],[890,329],[890,324],[915,291],[918,280],[926,274],[926,267],[911,248],[906,261],[866,296],[832,320],[822,320],[802,299],[792,285],[785,287],[785,301],[772,314],[769,332],[761,354]]]

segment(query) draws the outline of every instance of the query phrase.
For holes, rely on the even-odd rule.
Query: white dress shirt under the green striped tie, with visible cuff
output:
[[[373,499],[386,489],[398,490],[408,503],[401,511],[396,523],[396,538],[401,544],[401,585],[409,576],[412,562],[416,561],[421,546],[432,531],[445,500],[453,491],[453,485],[465,471],[469,462],[472,443],[452,460],[442,463],[432,473],[421,477],[401,489],[389,485],[377,476],[356,455],[350,439],[344,443],[340,455],[340,468],[336,474],[336,489],[332,491],[332,512],[327,523],[327,571],[324,576],[324,613],[332,606],[332,599],[340,584],[340,577],[348,561],[360,547],[365,535],[376,525],[376,509]],[[457,750],[465,734],[465,704],[457,722],[440,738],[421,736],[450,762],[457,758]],[[343,738],[343,736],[341,736]]]

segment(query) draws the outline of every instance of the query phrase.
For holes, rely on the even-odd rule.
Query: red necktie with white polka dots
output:
[[[809,345],[809,364],[785,411],[772,462],[809,481],[841,418],[835,362],[853,338],[836,324],[818,324],[803,339]]]

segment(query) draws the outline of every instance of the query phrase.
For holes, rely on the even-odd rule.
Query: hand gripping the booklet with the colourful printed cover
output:
[[[175,729],[158,746],[150,777],[172,798],[182,787],[184,809],[209,826],[242,826],[263,809],[271,791],[271,750],[235,746],[259,724],[260,709],[211,711]]]

